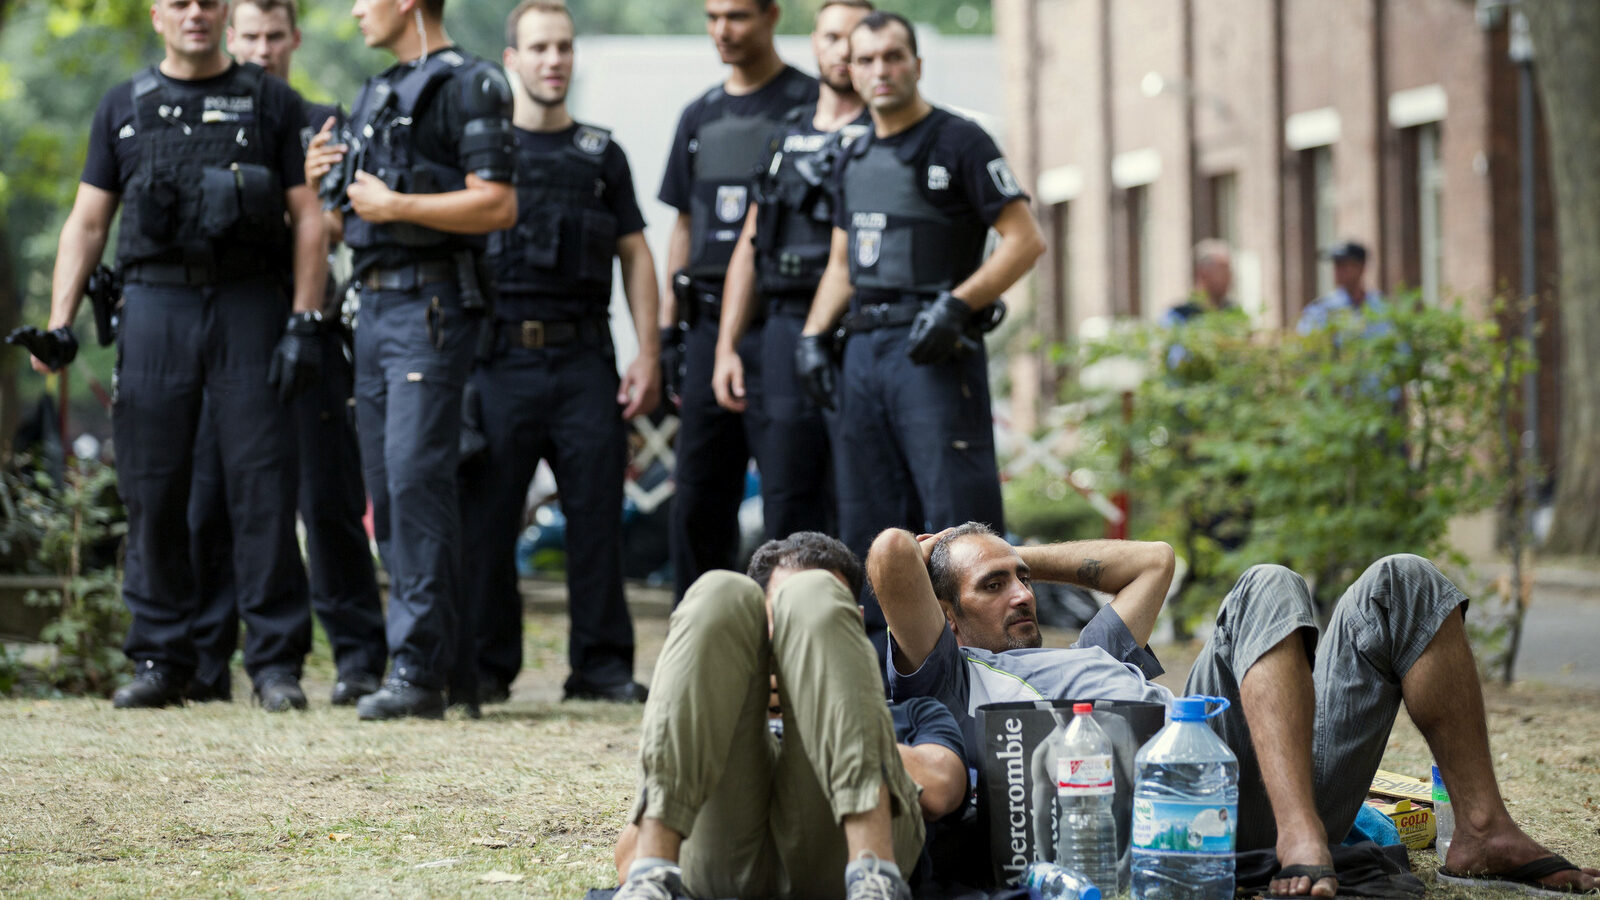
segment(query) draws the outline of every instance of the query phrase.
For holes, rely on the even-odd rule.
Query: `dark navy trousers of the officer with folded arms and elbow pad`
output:
[[[461,392],[480,315],[461,309],[453,280],[366,290],[360,315],[355,429],[389,572],[392,671],[443,689],[461,604]]]

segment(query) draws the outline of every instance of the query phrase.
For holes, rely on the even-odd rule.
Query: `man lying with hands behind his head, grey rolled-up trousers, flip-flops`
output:
[[[1173,705],[1152,682],[1147,647],[1174,569],[1144,541],[1018,546],[968,522],[938,535],[891,528],[867,556],[890,625],[890,692],[936,697],[966,732],[976,711],[1019,700],[1134,700]],[[1032,580],[1112,594],[1070,649],[1040,649]],[[1582,894],[1600,870],[1578,868],[1525,834],[1499,794],[1467,596],[1419,556],[1379,559],[1318,631],[1306,580],[1282,565],[1246,570],[1222,599],[1186,695],[1229,708],[1213,727],[1238,756],[1240,850],[1274,849],[1272,895],[1333,897],[1330,842],[1350,831],[1405,701],[1456,807],[1442,878]]]

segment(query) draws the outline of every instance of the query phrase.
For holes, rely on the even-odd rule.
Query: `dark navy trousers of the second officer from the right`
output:
[[[768,540],[795,532],[834,535],[834,463],[827,421],[795,375],[795,343],[811,298],[768,303],[762,333],[762,399],[766,429],[762,463],[762,517]]]

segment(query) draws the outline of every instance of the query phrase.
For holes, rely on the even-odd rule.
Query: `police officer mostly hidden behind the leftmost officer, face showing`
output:
[[[290,61],[299,46],[294,0],[238,0],[227,27],[227,51],[240,62],[254,62],[269,75],[288,80]],[[301,144],[338,117],[331,106],[306,102]],[[366,490],[350,416],[354,370],[339,322],[339,301],[328,282],[322,307],[320,380],[293,400],[299,447],[299,512],[306,524],[310,557],[310,605],[322,620],[338,679],[331,700],[347,706],[378,690],[389,649],[384,644],[384,612],[378,599],[373,554],[368,549]],[[229,660],[238,644],[234,591],[232,530],[222,479],[216,423],[202,413],[195,440],[195,480],[189,498],[189,532],[194,544],[200,615],[195,620],[198,665],[189,684],[189,700],[230,700]]]

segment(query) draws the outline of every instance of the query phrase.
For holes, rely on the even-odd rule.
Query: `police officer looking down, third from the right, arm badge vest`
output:
[[[702,572],[736,564],[744,472],[762,447],[758,327],[750,327],[739,346],[749,404],[742,416],[717,405],[710,378],[723,280],[752,175],[773,127],[816,98],[816,78],[784,64],[773,46],[778,14],[773,0],[706,0],[706,30],[733,70],[683,109],[661,181],[661,202],[678,210],[667,271],[688,275],[682,296],[669,295],[661,304],[662,359],[669,370],[682,359],[669,532],[675,599]]]

